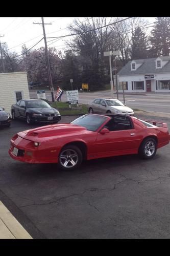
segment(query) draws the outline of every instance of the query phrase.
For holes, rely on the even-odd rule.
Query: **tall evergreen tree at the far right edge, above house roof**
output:
[[[150,36],[150,57],[169,56],[170,17],[157,17]]]

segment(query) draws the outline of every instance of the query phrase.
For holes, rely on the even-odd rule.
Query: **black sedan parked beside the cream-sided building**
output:
[[[11,106],[12,119],[22,118],[28,124],[33,122],[57,123],[61,120],[58,110],[41,99],[19,100]]]

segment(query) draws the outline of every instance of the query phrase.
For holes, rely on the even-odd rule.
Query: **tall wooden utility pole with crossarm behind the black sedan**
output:
[[[52,101],[54,102],[54,87],[53,87],[52,73],[51,73],[51,68],[50,68],[50,60],[49,60],[49,57],[48,57],[45,27],[44,27],[44,25],[52,25],[52,23],[44,23],[44,18],[43,17],[41,17],[41,20],[42,20],[42,23],[33,23],[33,24],[41,24],[42,25],[43,35],[44,35],[44,44],[45,44],[45,57],[46,57],[46,66],[47,66],[47,72],[48,72],[48,80],[49,80],[49,83],[50,83]]]

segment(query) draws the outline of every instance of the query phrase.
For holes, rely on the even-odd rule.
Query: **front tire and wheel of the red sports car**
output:
[[[58,166],[62,170],[74,170],[81,165],[82,159],[82,152],[79,147],[70,144],[62,148]]]

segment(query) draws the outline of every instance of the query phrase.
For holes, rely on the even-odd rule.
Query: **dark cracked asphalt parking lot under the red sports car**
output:
[[[60,123],[75,118],[62,117]],[[170,119],[154,119],[170,130]],[[0,129],[0,200],[34,239],[170,238],[169,144],[152,160],[111,157],[64,172],[56,164],[10,158],[10,138],[28,129],[20,120]]]

